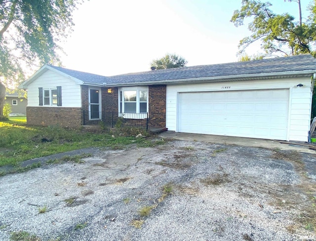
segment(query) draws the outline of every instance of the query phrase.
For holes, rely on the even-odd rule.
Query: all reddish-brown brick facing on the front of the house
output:
[[[106,124],[116,123],[118,119],[118,87],[111,87],[111,90],[112,92],[108,93],[108,87],[101,87],[102,121]],[[166,85],[150,85],[148,90],[149,127],[165,127]],[[28,106],[27,123],[37,126],[61,125],[75,128],[83,123],[92,124],[89,123],[89,86],[86,85],[81,85],[81,106],[82,108]],[[125,119],[124,123],[132,126],[136,125],[134,122],[139,121]],[[144,123],[146,124],[146,121]],[[96,122],[93,121],[93,124]]]

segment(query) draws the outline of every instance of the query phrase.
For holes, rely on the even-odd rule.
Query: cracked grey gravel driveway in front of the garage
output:
[[[315,154],[170,140],[84,161],[0,177],[0,240],[316,241]]]

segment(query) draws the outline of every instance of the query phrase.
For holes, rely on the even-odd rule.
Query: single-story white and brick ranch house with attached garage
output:
[[[45,65],[19,88],[30,125],[148,113],[149,126],[176,132],[308,141],[315,73],[311,55],[110,77]]]

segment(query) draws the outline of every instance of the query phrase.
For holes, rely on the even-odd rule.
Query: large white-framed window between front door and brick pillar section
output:
[[[118,98],[121,113],[147,113],[148,111],[148,88],[122,88]]]

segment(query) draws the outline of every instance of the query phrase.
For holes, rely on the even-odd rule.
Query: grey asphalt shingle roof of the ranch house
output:
[[[273,59],[254,60],[246,62],[234,62],[216,65],[201,65],[175,69],[157,69],[144,72],[126,73],[114,76],[102,76],[71,69],[51,66],[75,78],[89,83],[132,84],[149,81],[164,81],[192,79],[192,78],[216,78],[223,76],[251,75],[260,73],[278,73],[303,70],[316,71],[316,59],[309,55],[295,55]]]

